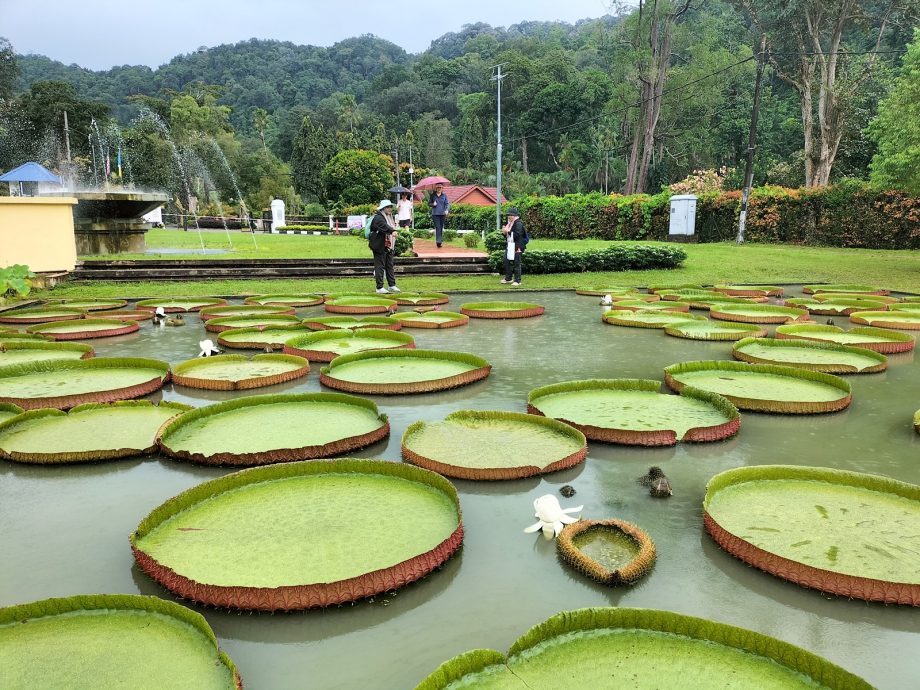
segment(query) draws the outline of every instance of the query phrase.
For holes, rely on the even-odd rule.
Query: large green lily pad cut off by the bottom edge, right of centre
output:
[[[751,630],[649,609],[563,611],[507,656],[476,649],[441,664],[415,690],[711,688],[871,690],[800,647]]]

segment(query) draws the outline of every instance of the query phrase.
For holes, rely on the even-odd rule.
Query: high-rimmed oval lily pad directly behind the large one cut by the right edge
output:
[[[773,364],[683,362],[666,367],[664,374],[672,390],[695,386],[755,412],[837,412],[846,408],[852,397],[850,384],[839,376]]]

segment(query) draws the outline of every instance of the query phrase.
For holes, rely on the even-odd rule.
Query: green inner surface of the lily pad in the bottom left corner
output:
[[[0,687],[231,690],[214,643],[170,616],[85,611],[0,626]]]

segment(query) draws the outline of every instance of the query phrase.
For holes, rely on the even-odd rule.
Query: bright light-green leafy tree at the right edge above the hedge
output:
[[[872,159],[872,182],[920,194],[920,29],[908,48],[888,97],[869,126],[878,143]]]

